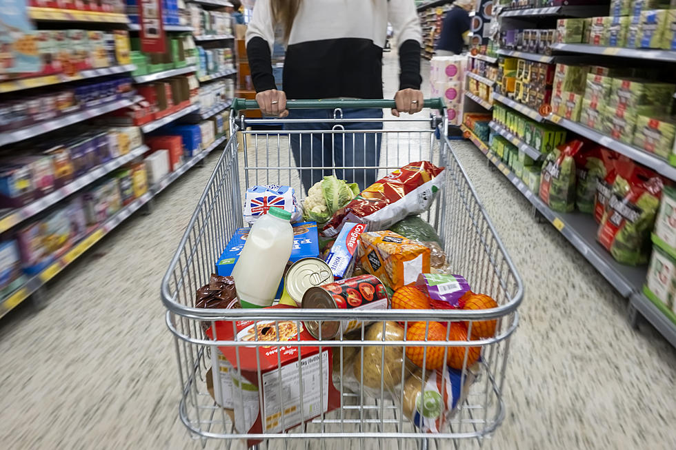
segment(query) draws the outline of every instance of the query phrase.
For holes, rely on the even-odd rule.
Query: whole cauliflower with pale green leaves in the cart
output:
[[[308,190],[303,204],[303,217],[306,221],[326,223],[332,214],[350,203],[357,194],[357,183],[347,183],[335,175],[325,176]]]

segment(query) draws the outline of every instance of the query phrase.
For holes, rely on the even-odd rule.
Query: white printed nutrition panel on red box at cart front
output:
[[[320,361],[321,373],[319,371]],[[299,364],[302,365],[302,380],[299,378]],[[301,387],[303,389],[302,405]],[[323,351],[321,356],[319,354],[309,356],[300,362],[295,361],[279,370],[263,374],[264,427],[266,427],[264,431],[266,433],[284,431],[280,394],[281,405],[284,405],[284,429],[299,425],[303,419],[308,420],[326,412],[328,410],[328,350]],[[323,395],[320,396],[320,394]]]

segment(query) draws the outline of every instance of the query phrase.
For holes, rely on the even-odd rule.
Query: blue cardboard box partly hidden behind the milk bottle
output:
[[[235,268],[235,263],[244,248],[246,236],[248,236],[250,228],[239,228],[232,236],[225,251],[218,258],[216,263],[216,273],[221,276],[232,275],[232,269]],[[293,225],[293,249],[289,258],[290,263],[295,263],[297,260],[303,258],[317,258],[319,256],[319,236],[317,235],[317,223],[303,222]],[[279,283],[277,295],[275,298],[281,297],[281,291],[284,288],[284,279]]]

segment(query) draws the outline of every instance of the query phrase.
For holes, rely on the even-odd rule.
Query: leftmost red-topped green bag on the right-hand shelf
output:
[[[547,155],[540,181],[540,198],[557,212],[575,209],[575,155],[583,142],[570,141]]]

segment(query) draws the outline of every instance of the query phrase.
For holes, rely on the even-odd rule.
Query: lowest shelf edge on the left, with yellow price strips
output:
[[[36,292],[40,287],[48,283],[48,281],[54,278],[54,276],[57,276],[59,272],[61,272],[63,269],[72,264],[74,260],[77,260],[77,258],[79,258],[88,249],[90,249],[92,245],[95,245],[97,242],[101,241],[103,236],[106,236],[106,234],[110,233],[113,229],[115,229],[115,227],[117,227],[117,225],[122,223],[122,221],[131,216],[133,213],[137,212],[137,210],[141,206],[148,203],[148,201],[150,201],[150,198],[152,198],[152,196],[153,194],[151,192],[146,192],[146,194],[143,194],[135,201],[132,201],[132,203],[130,203],[126,207],[120,209],[119,212],[115,214],[115,216],[109,218],[108,221],[100,225],[97,229],[91,232],[86,238],[83,238],[79,243],[74,245],[72,249],[68,250],[66,254],[61,256],[61,258],[54,261],[54,263],[49,265],[46,269],[44,269],[36,276],[29,278],[28,281],[26,281],[26,283],[22,287],[19,287],[19,289],[14,291],[12,294],[1,299],[0,317],[7,314],[14,307],[19,305],[19,303],[23,302],[23,300],[26,300],[26,298],[28,298],[31,294]]]

